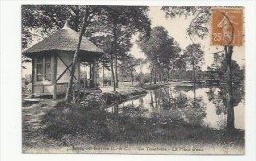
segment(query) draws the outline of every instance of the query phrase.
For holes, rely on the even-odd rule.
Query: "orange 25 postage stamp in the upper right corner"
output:
[[[243,45],[243,8],[213,8],[212,45]]]

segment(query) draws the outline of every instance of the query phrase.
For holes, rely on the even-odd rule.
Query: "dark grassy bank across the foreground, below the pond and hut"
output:
[[[127,145],[129,147],[160,144],[177,148],[182,145],[201,149],[216,148],[243,153],[244,131],[212,130],[188,125],[167,118],[130,117],[108,113],[105,100],[91,95],[80,105],[59,102],[54,108],[37,105],[32,108],[34,115],[44,108],[44,114],[35,119],[41,126],[34,128],[26,122],[28,116],[23,111],[23,149],[69,148],[83,153],[91,146]],[[37,110],[36,110],[37,109]],[[28,112],[28,111],[27,111]],[[33,127],[30,127],[33,126]],[[214,148],[214,149],[213,149]],[[26,150],[27,149],[27,150]],[[242,149],[242,150],[240,150]],[[210,150],[210,151],[211,151]],[[43,151],[43,150],[42,150]]]

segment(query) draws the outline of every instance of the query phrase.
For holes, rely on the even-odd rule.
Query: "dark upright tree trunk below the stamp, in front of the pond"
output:
[[[224,46],[226,63],[227,63],[227,130],[234,129],[234,108],[233,108],[233,91],[232,91],[232,53],[233,46]]]

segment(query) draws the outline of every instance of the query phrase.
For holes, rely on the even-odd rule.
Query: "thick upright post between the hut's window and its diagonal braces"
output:
[[[57,99],[57,57],[51,56],[51,83],[53,86],[53,99]]]

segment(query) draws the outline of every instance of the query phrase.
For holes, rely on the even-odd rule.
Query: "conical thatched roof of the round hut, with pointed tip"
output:
[[[66,24],[62,29],[24,51],[23,55],[36,57],[37,55],[47,53],[48,51],[68,51],[69,53],[74,54],[78,45],[78,39],[79,33],[72,30]],[[87,38],[83,37],[80,46],[80,54],[83,56],[101,56],[103,50],[96,47],[96,45]]]

